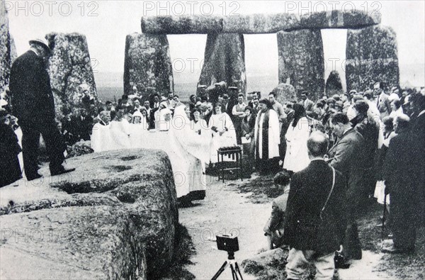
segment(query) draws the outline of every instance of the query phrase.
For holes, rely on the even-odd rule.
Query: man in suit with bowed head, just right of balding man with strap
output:
[[[365,140],[358,131],[351,127],[348,117],[344,113],[335,113],[331,117],[331,128],[338,138],[335,145],[329,149],[329,161],[331,167],[341,172],[346,181],[347,187],[347,228],[343,242],[344,258],[361,259],[361,243],[358,239],[357,213],[361,207],[364,192],[363,186],[363,166],[365,165],[365,155],[363,147]]]

